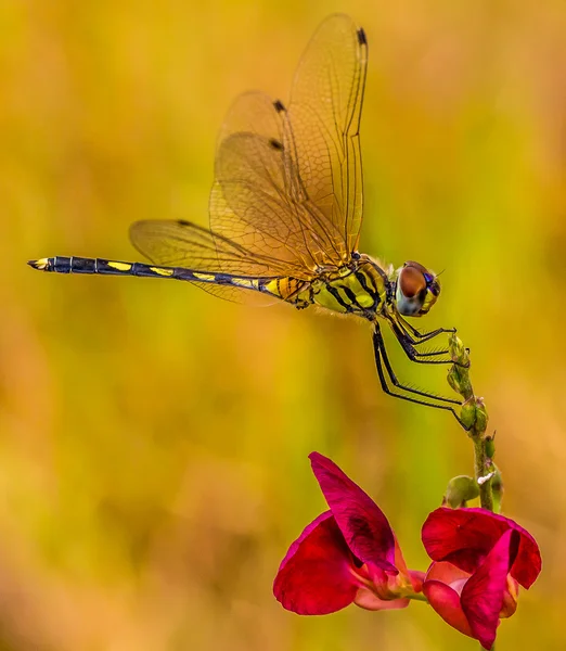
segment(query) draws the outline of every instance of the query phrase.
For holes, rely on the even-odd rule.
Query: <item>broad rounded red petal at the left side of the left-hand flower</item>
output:
[[[299,615],[326,615],[349,605],[358,591],[351,554],[332,512],[311,522],[290,547],[273,593]]]

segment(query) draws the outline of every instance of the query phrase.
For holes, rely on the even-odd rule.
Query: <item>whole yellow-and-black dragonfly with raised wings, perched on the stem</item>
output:
[[[295,73],[288,104],[258,91],[240,95],[221,128],[209,200],[209,228],[143,220],[130,227],[150,260],[55,256],[29,260],[42,271],[182,280],[210,294],[283,301],[371,323],[377,374],[391,396],[451,411],[458,399],[402,384],[382,326],[417,363],[451,365],[445,348],[422,345],[455,332],[422,332],[408,318],[428,314],[437,275],[416,261],[395,269],[358,252],[363,213],[360,120],[368,38],[347,15],[327,17]]]

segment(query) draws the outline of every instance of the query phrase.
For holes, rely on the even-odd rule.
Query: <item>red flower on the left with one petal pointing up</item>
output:
[[[333,461],[310,456],[330,507],[290,547],[273,584],[283,608],[323,615],[350,603],[368,610],[406,608],[424,573],[407,569],[387,518]]]

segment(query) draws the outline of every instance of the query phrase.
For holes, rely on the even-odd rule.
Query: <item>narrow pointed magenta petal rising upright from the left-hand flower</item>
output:
[[[309,459],[352,553],[362,563],[373,563],[390,574],[397,574],[395,536],[382,510],[336,463],[319,452],[312,452]]]

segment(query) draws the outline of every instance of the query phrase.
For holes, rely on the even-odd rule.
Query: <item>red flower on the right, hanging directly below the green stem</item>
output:
[[[513,520],[485,509],[433,511],[422,529],[433,559],[423,592],[460,633],[491,649],[501,617],[516,609],[518,586],[529,588],[541,570],[535,538]]]

